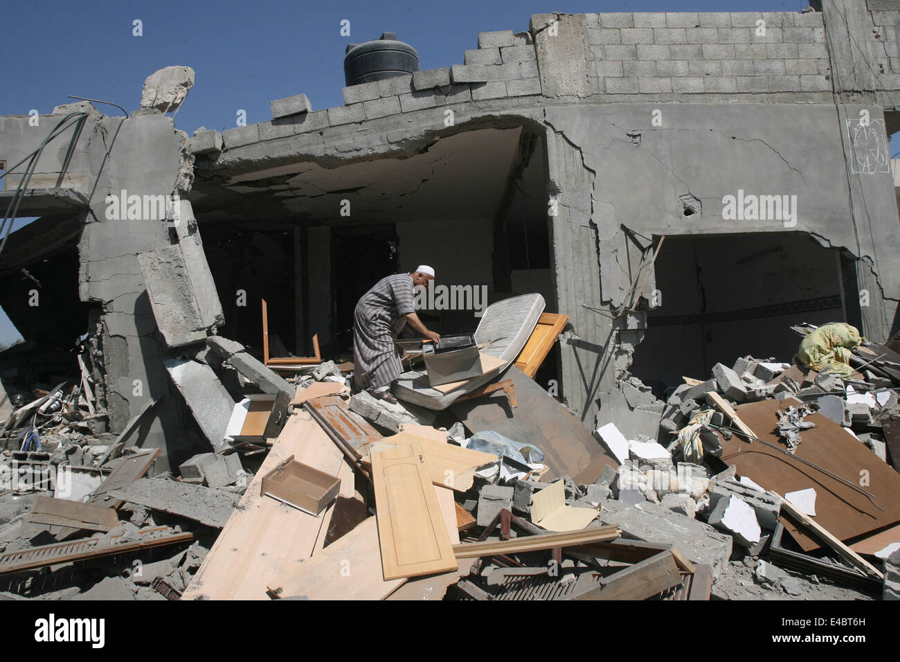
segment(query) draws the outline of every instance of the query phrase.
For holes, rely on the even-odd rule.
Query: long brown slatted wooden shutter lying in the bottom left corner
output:
[[[138,551],[139,549],[175,545],[179,542],[193,540],[193,533],[179,533],[168,527],[155,527],[153,529],[139,531],[139,534],[147,536],[148,533],[155,533],[157,531],[171,532],[166,532],[165,535],[157,538],[148,537],[147,540],[123,542],[120,544],[115,544],[114,542],[114,540],[120,536],[116,536],[112,540],[87,538],[75,540],[74,542],[58,542],[53,545],[42,545],[40,547],[5,552],[4,554],[0,554],[0,574],[21,572],[37,567],[54,566],[58,563],[83,561],[87,558],[109,557]]]

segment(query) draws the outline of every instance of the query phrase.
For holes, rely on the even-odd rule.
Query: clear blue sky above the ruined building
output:
[[[140,101],[144,78],[158,68],[187,65],[196,81],[175,125],[188,134],[272,115],[273,99],[304,93],[314,110],[344,103],[347,43],[397,32],[419,51],[419,68],[462,64],[478,33],[524,32],[532,14],[566,12],[799,12],[804,0],[620,0],[618,2],[7,2],[3,8],[4,75],[0,114],[49,113],[67,95],[120,104]],[[350,36],[340,22],[350,22]],[[143,35],[133,36],[132,23]],[[112,106],[99,106],[121,114]],[[2,150],[0,144],[0,150]],[[0,155],[2,156],[2,155]],[[0,312],[0,343],[19,337]]]

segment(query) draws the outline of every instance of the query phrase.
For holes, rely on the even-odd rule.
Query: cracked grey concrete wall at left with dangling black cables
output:
[[[32,127],[28,117],[0,118],[0,157],[13,165],[18,160],[14,156],[35,149],[58,119],[41,115],[39,125]],[[173,119],[162,113],[137,111],[129,118],[92,115],[63,184],[85,197],[93,191],[78,244],[78,295],[81,301],[103,307],[92,346],[94,354],[102,355],[109,429],[121,431],[148,400],[163,397],[141,440],[144,448],[163,449],[157,471],[166,471],[169,458],[175,463],[186,458],[195,442],[185,433],[180,395],[161,360],[166,346],[157,331],[137,254],[169,246],[177,238],[166,227],[165,206],[146,218],[143,210],[139,219],[109,218],[107,195],[184,193],[193,180],[193,155],[186,142],[184,132],[176,131]],[[66,149],[67,141],[50,143],[40,159],[41,177],[32,179],[31,187],[56,185]],[[7,189],[16,183],[8,182]],[[190,239],[202,251],[199,234]]]

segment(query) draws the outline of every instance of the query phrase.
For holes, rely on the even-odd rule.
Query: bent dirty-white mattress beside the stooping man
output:
[[[538,294],[513,296],[488,306],[482,315],[482,321],[475,330],[475,341],[490,343],[482,352],[500,358],[503,365],[482,376],[474,377],[465,385],[451,391],[441,393],[428,385],[428,376],[419,370],[404,372],[393,383],[392,394],[408,403],[419,404],[428,409],[446,409],[461,395],[471,393],[479,386],[485,385],[500,376],[511,364],[525,343],[535,331],[537,321],[544,313],[544,297]]]

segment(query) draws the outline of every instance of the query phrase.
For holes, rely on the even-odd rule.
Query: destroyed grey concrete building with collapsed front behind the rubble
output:
[[[271,121],[223,132],[175,129],[171,113],[193,86],[186,66],[149,77],[139,109],[123,115],[82,101],[38,122],[0,117],[0,201],[7,216],[40,217],[2,239],[0,305],[25,343],[0,354],[0,376],[19,394],[76,376],[90,392],[79,429],[105,435],[112,455],[158,449],[144,472],[183,478],[184,465],[222,459],[221,485],[234,484],[239,465],[196,458],[234,438],[240,398],[299,408],[294,377],[312,367],[325,367],[317,383],[343,384],[359,296],[426,260],[456,287],[422,311],[442,331],[477,340],[490,304],[527,295],[523,343],[544,311],[566,316],[534,380],[512,379],[513,393],[530,403],[549,391],[573,414],[563,427],[580,428],[572,438],[587,436],[566,457],[543,449],[552,477],[590,485],[610,467],[621,483],[619,465],[653,460],[631,444],[668,444],[705,394],[740,394],[734,403],[755,389],[770,402],[775,386],[764,386],[787,373],[765,366],[797,352],[790,327],[847,322],[875,343],[896,333],[898,27],[884,0],[803,13],[536,14],[527,32],[478,34],[462,65],[348,85],[344,105],[319,110],[298,90],[272,102]],[[744,370],[727,367],[745,356]],[[760,384],[741,381],[748,368]],[[792,377],[792,394],[807,374]],[[684,396],[682,376],[710,375]],[[401,400],[408,424],[442,422]],[[7,405],[10,430],[36,402]],[[365,406],[352,408],[375,430],[400,430],[405,414],[380,419]],[[467,415],[475,432],[482,414]],[[202,468],[195,479],[212,487]],[[148,482],[117,499],[177,514],[154,505]],[[568,487],[566,505],[588,498]],[[510,499],[502,487],[496,500]],[[221,528],[233,505],[203,525]],[[755,516],[770,506],[753,505]],[[627,528],[615,519],[603,523]],[[732,551],[718,535],[715,555],[700,554],[716,574]]]

